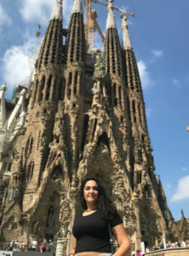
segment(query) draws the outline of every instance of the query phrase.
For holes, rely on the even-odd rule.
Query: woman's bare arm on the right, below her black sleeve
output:
[[[118,243],[118,250],[113,256],[125,256],[126,253],[130,253],[130,241],[129,237],[125,232],[123,224],[118,224],[112,228],[113,236],[115,236]]]

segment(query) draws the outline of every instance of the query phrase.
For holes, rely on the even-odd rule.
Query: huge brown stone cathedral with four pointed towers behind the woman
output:
[[[146,109],[127,24],[123,42],[108,0],[104,49],[88,51],[81,0],[63,28],[56,0],[31,84],[17,102],[0,92],[0,241],[43,238],[72,246],[84,177],[99,177],[123,218],[133,249],[189,239],[154,173]],[[65,42],[65,43],[64,43]],[[114,242],[117,247],[117,242]],[[61,254],[62,255],[62,254]]]

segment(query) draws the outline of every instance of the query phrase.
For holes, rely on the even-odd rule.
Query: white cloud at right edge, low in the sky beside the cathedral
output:
[[[189,175],[180,178],[176,193],[172,196],[171,201],[180,201],[186,198],[189,198]]]

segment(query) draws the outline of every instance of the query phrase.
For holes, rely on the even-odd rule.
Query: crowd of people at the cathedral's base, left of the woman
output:
[[[5,249],[6,251],[50,253],[53,252],[53,241],[49,240],[48,242],[46,238],[44,238],[43,242],[39,245],[36,238],[34,238],[33,241],[27,241],[26,243],[13,240]]]

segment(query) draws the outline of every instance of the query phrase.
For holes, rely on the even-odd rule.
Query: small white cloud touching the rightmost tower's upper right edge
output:
[[[149,85],[152,84],[152,80],[150,78],[150,73],[147,72],[146,63],[144,61],[138,61],[137,65],[139,68],[142,88],[146,89]]]

